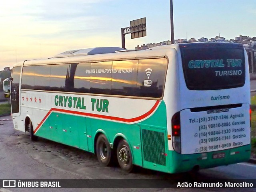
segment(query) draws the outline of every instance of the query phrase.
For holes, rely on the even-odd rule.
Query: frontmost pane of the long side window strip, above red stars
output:
[[[35,66],[24,66],[21,78],[21,89],[34,89]]]

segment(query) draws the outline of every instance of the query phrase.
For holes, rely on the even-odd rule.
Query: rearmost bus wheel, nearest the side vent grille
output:
[[[122,170],[132,172],[134,168],[132,162],[132,151],[126,140],[120,140],[117,146],[116,155],[118,164]]]

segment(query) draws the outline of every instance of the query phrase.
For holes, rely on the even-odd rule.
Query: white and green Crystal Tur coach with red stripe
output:
[[[241,44],[66,51],[15,65],[4,90],[14,129],[95,153],[104,166],[176,173],[250,158]]]

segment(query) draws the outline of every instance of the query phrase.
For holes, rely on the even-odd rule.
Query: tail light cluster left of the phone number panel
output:
[[[180,112],[177,112],[172,116],[172,147],[176,152],[181,152]]]

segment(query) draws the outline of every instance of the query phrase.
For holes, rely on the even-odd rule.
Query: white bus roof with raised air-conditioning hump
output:
[[[67,62],[81,62],[81,61],[103,61],[111,59],[135,59],[138,57],[153,57],[153,56],[160,56],[159,53],[157,55],[156,52],[163,50],[163,49],[176,49],[179,50],[180,46],[188,46],[188,47],[201,47],[203,45],[226,45],[231,47],[239,47],[240,44],[230,44],[230,43],[216,43],[216,42],[202,42],[202,43],[187,43],[187,44],[172,44],[172,45],[162,45],[153,48],[148,48],[145,50],[127,50],[118,47],[101,47],[101,48],[88,48],[88,49],[76,49],[65,51],[54,57],[49,57],[46,59],[36,59],[36,60],[27,60],[24,61],[24,65],[44,65],[44,64],[61,64]],[[152,51],[154,53],[152,55]],[[166,52],[164,51],[164,52]],[[161,51],[162,56],[164,56],[164,52]],[[14,66],[22,65],[23,62],[17,63]]]

